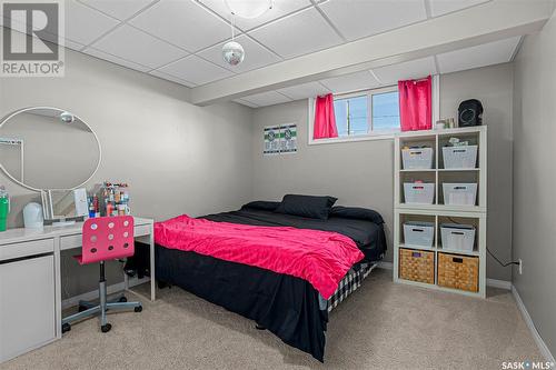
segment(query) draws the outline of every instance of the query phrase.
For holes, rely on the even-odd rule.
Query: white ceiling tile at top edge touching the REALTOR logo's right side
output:
[[[89,44],[107,31],[116,27],[119,21],[102,14],[76,0],[66,1],[66,39]]]

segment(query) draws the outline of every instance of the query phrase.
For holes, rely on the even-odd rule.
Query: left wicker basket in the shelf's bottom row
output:
[[[399,249],[399,278],[435,283],[435,252]]]

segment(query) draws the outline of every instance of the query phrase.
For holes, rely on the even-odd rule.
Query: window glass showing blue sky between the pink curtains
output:
[[[397,88],[335,97],[334,111],[340,138],[399,131]]]

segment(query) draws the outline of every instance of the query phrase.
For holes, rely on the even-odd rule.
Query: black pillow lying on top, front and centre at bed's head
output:
[[[337,200],[334,197],[286,194],[276,212],[326,220]]]

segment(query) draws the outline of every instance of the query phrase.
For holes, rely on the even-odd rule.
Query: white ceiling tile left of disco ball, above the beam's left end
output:
[[[209,83],[234,74],[234,72],[215,66],[197,56],[189,56],[180,59],[160,68],[159,71],[186,81],[191,81],[196,84]]]

